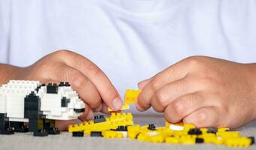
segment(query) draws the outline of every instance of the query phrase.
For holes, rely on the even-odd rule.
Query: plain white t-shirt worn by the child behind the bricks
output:
[[[255,0],[0,0],[0,62],[57,49],[92,60],[123,95],[190,55],[256,62]]]

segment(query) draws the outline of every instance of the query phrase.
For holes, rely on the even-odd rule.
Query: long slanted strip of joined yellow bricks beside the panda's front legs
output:
[[[105,117],[105,121],[94,123],[94,121],[84,121],[81,124],[69,126],[69,132],[84,130],[89,134],[90,131],[103,131],[116,129],[118,126],[133,125],[133,115],[131,113],[111,113],[111,116]]]

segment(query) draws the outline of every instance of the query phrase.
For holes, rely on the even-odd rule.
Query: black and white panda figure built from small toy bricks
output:
[[[76,119],[84,107],[69,83],[46,86],[38,81],[10,80],[0,87],[0,134],[58,134],[55,120]]]

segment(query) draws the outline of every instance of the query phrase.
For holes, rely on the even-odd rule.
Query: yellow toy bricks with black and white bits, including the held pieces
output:
[[[129,110],[130,104],[136,103],[140,91],[127,90],[121,110]],[[111,109],[109,109],[111,111]],[[172,124],[166,122],[165,127],[154,124],[140,126],[133,124],[131,113],[111,113],[109,117],[95,116],[92,121],[69,126],[73,136],[102,136],[110,138],[130,138],[145,142],[165,142],[168,144],[213,143],[230,147],[248,147],[254,144],[254,137],[241,136],[237,131],[227,127],[197,128],[193,124]]]

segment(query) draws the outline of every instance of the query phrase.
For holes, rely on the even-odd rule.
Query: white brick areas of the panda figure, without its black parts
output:
[[[58,93],[47,93],[47,86],[41,86],[38,93],[35,91],[41,83],[38,81],[11,80],[0,87],[0,113],[7,113],[10,121],[29,121],[24,118],[24,98],[31,92],[35,92],[40,98],[40,110],[46,118],[55,120],[76,119],[82,113],[76,113],[74,109],[83,109],[84,102],[70,86],[59,86]],[[67,107],[61,106],[62,98],[69,99]]]

